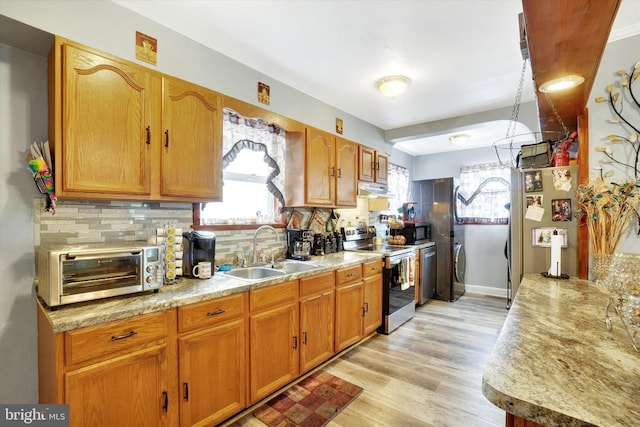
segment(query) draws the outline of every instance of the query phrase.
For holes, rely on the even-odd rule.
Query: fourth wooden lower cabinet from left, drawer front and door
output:
[[[300,373],[334,354],[334,284],[333,272],[300,279]]]

